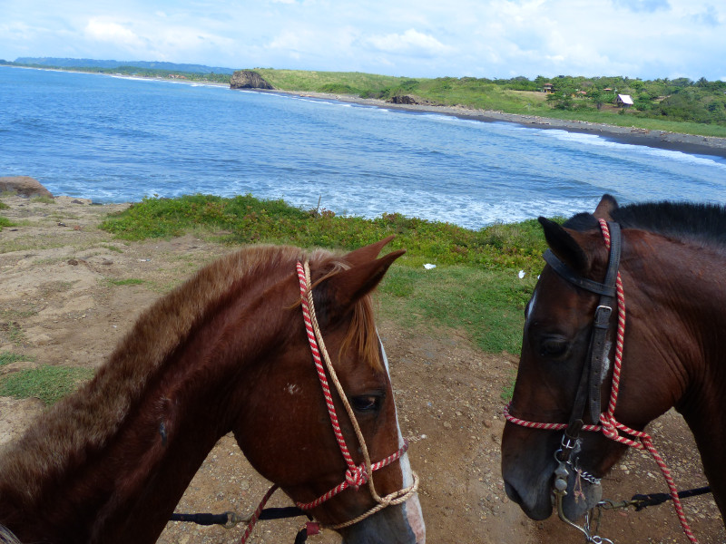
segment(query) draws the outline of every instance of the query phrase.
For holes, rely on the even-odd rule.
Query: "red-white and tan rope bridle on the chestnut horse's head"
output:
[[[316,500],[311,500],[310,502],[296,502],[296,504],[300,510],[307,512],[318,507],[326,500],[332,499],[333,497],[338,495],[338,493],[345,491],[348,488],[352,488],[355,491],[358,491],[358,489],[360,489],[367,483],[370,495],[377,502],[376,506],[360,514],[358,517],[352,520],[338,523],[336,525],[324,526],[318,522],[309,522],[306,527],[307,535],[314,535],[318,534],[319,530],[323,527],[328,529],[343,529],[354,525],[355,523],[358,523],[358,521],[365,520],[366,518],[372,516],[380,510],[387,508],[388,506],[394,506],[406,502],[418,490],[418,476],[416,472],[411,472],[413,478],[413,482],[411,483],[411,485],[401,490],[393,491],[385,497],[381,497],[380,495],[378,495],[378,491],[376,491],[376,486],[373,483],[373,472],[378,471],[379,469],[382,469],[383,467],[386,467],[392,462],[400,459],[401,456],[408,450],[408,441],[404,440],[403,446],[401,446],[401,448],[397,450],[397,452],[393,452],[392,454],[388,455],[388,457],[386,457],[385,459],[377,462],[370,461],[368,446],[366,445],[366,440],[363,436],[363,432],[361,432],[360,430],[358,420],[356,419],[356,415],[353,412],[353,408],[350,406],[350,403],[348,403],[348,397],[343,390],[343,386],[338,380],[338,375],[336,374],[335,368],[333,368],[333,364],[330,361],[328,350],[325,347],[325,342],[323,341],[323,336],[320,332],[318,318],[315,315],[315,305],[313,303],[309,263],[307,261],[304,265],[298,263],[297,272],[300,287],[300,306],[302,307],[302,316],[303,321],[305,322],[305,332],[308,335],[310,353],[312,354],[315,368],[318,372],[320,386],[322,388],[323,395],[325,396],[325,403],[328,408],[330,424],[333,427],[333,432],[335,433],[336,441],[338,442],[338,447],[340,448],[340,453],[343,455],[343,459],[346,461],[348,469],[345,473],[344,480],[336,487],[319,496],[319,498]],[[355,461],[353,461],[353,457],[348,450],[348,445],[346,443],[345,437],[343,436],[343,432],[340,429],[340,424],[338,423],[338,413],[336,413],[335,403],[333,402],[333,396],[330,391],[326,371],[330,376],[330,380],[335,385],[336,391],[338,392],[338,397],[343,406],[345,407],[346,412],[348,413],[348,418],[350,419],[350,423],[353,425],[353,429],[356,432],[356,437],[358,438],[358,444],[360,446],[360,452],[362,452],[364,460],[359,465],[356,465]],[[270,490],[267,491],[263,499],[260,501],[260,506],[258,506],[254,514],[252,514],[247,529],[245,529],[245,532],[242,535],[241,544],[244,544],[249,538],[255,523],[260,518],[260,514],[265,506],[265,503],[270,499],[272,494],[277,489],[278,486],[273,485]]]

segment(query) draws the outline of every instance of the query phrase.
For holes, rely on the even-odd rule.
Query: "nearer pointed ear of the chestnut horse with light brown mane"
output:
[[[380,243],[380,242],[379,242]],[[368,246],[370,248],[370,246]],[[378,254],[378,251],[376,252]],[[329,296],[335,300],[339,312],[347,312],[362,296],[368,295],[386,275],[393,261],[406,253],[405,249],[392,251],[380,258],[355,265],[338,272],[326,280]]]

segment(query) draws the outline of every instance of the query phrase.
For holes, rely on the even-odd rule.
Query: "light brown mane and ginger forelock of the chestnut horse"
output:
[[[173,350],[225,296],[233,296],[230,293],[243,290],[252,281],[271,286],[294,274],[295,263],[306,258],[313,268],[329,268],[329,275],[347,267],[323,249],[305,252],[292,247],[251,246],[221,257],[158,299],[143,312],[90,383],[56,403],[19,442],[5,446],[0,454],[0,495],[4,488],[15,489],[25,500],[33,500],[41,492],[40,474],[58,475],[69,465],[83,465],[89,452],[101,449],[123,425],[132,407],[141,402],[144,384],[161,372]],[[369,364],[379,364],[370,297],[364,296],[353,311],[346,344],[357,349]],[[26,487],[18,490],[18,486]]]

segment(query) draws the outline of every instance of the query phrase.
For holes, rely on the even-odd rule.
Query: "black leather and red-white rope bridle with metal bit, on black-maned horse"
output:
[[[603,283],[596,282],[587,277],[577,274],[572,268],[568,267],[551,250],[544,252],[545,262],[553,268],[559,276],[573,284],[575,287],[583,288],[587,291],[600,295],[600,301],[595,309],[593,333],[591,335],[590,347],[588,350],[588,359],[583,367],[583,374],[580,377],[580,384],[575,395],[573,411],[570,414],[568,423],[539,423],[529,422],[519,419],[509,412],[510,406],[505,407],[505,419],[509,423],[515,423],[530,429],[543,429],[547,431],[564,431],[561,448],[554,452],[554,459],[557,461],[557,467],[554,470],[553,493],[557,505],[557,513],[561,520],[575,529],[584,532],[588,542],[610,542],[608,539],[591,536],[589,528],[580,527],[573,521],[568,520],[564,515],[563,500],[567,494],[567,477],[569,476],[568,466],[573,469],[578,477],[584,478],[594,484],[600,481],[587,472],[581,471],[574,467],[570,461],[570,456],[579,440],[581,431],[602,432],[606,438],[615,442],[620,442],[632,448],[639,450],[647,450],[651,453],[652,458],[661,468],[662,475],[668,483],[668,488],[673,500],[673,507],[681,521],[681,527],[686,537],[692,543],[697,544],[696,538],[693,536],[692,530],[688,525],[685,514],[683,513],[681,500],[676,490],[675,482],[672,479],[671,471],[662,460],[661,455],[652,445],[651,436],[643,431],[636,431],[630,427],[619,423],[614,416],[615,406],[620,390],[620,376],[623,365],[623,340],[625,335],[625,295],[623,291],[623,281],[620,277],[620,256],[622,236],[620,225],[617,223],[609,223],[605,219],[598,219],[605,247],[610,252],[607,271]],[[603,372],[606,367],[607,356],[610,352],[610,345],[607,342],[607,335],[610,329],[611,316],[613,314],[613,302],[617,306],[617,329],[615,340],[615,357],[613,362],[613,383],[610,391],[610,400],[605,412],[602,412],[601,404],[601,384],[603,381]],[[589,409],[589,410],[588,410]],[[589,412],[591,424],[584,423],[585,412]]]

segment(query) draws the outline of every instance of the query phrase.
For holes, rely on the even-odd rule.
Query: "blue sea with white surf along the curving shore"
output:
[[[726,203],[726,160],[594,134],[0,66],[0,176],[96,202],[251,193],[482,228],[623,203]]]

